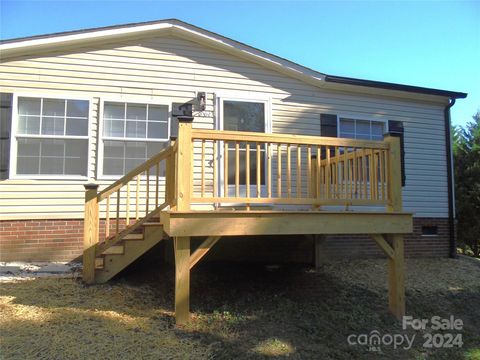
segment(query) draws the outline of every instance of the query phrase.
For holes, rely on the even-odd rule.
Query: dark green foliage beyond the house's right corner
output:
[[[458,240],[480,256],[480,111],[452,129]]]

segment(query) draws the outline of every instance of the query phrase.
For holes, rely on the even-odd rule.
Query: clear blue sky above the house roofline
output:
[[[8,1],[9,39],[164,18],[180,20],[340,76],[467,92],[480,108],[480,1]]]

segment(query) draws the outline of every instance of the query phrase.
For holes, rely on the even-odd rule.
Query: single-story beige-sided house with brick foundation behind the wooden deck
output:
[[[447,257],[455,252],[449,113],[456,99],[466,97],[464,93],[327,75],[175,19],[3,40],[0,92],[1,261],[70,261],[80,256],[84,185],[95,183],[105,189],[167,149],[178,135],[178,117],[183,115],[192,116],[191,126],[198,130],[285,134],[279,137],[285,146],[278,148],[273,142],[265,145],[267,140],[255,147],[256,138],[242,142],[239,137],[228,145],[223,139],[225,147],[219,142],[214,150],[205,145],[214,141],[213,133],[197,134],[203,137],[193,150],[195,166],[212,158],[195,171],[192,183],[202,196],[204,191],[213,195],[210,202],[198,201],[192,207],[217,208],[219,198],[228,195],[233,200],[226,206],[241,202],[250,210],[265,204],[240,197],[263,198],[267,192],[271,197],[273,192],[290,199],[283,205],[275,202],[275,208],[305,204],[347,212],[356,204],[374,208],[381,203],[380,195],[371,204],[358,196],[363,185],[365,194],[375,195],[367,186],[371,189],[369,179],[377,175],[383,179],[381,150],[375,150],[378,174],[364,172],[362,177],[362,170],[354,168],[357,160],[367,172],[374,160],[360,160],[359,153],[345,160],[337,175],[331,170],[329,185],[308,176],[317,164],[316,154],[320,169],[321,161],[333,162],[351,148],[383,141],[389,133],[401,139],[400,195],[403,211],[413,214],[413,233],[405,235],[406,254]],[[332,138],[358,142],[349,146],[339,142],[330,151],[317,140],[311,140],[311,146],[300,142],[307,145],[290,148],[289,135],[325,137],[330,139],[327,145],[334,144]],[[247,147],[253,156],[244,155]],[[270,158],[274,151],[283,151],[276,160]],[[166,192],[168,171],[163,165],[152,171],[157,172],[157,185],[148,194],[156,192],[158,198],[158,192]],[[330,174],[322,171],[318,176]],[[147,175],[151,178],[152,172]],[[345,190],[345,201],[340,201],[338,181],[326,207],[291,200],[313,198],[307,192],[315,181],[317,197],[327,193],[335,177],[343,179],[340,187],[347,178],[354,184]],[[144,184],[145,178],[141,181]],[[256,195],[249,195],[251,187],[252,194],[258,190]],[[348,191],[360,194],[349,198],[357,196],[358,202],[347,201]],[[122,199],[135,197],[134,192],[132,185]],[[146,202],[147,208],[148,194],[140,193],[140,200],[136,194],[137,202]],[[110,200],[114,206],[117,200]],[[123,222],[135,217],[127,215],[129,206],[117,208]],[[371,239],[349,234],[328,237],[323,250],[328,256],[380,254]]]

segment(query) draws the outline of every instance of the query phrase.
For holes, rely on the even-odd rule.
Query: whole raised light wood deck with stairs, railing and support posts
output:
[[[238,235],[368,234],[388,259],[390,311],[405,313],[412,215],[402,211],[398,138],[197,130],[179,118],[178,140],[165,150],[100,193],[85,187],[84,281],[108,281],[173,239],[178,324],[189,320],[190,269]],[[205,237],[193,251],[192,236]]]

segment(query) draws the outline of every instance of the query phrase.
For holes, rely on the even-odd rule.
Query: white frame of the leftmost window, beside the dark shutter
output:
[[[88,101],[88,124],[87,135],[35,135],[35,134],[17,134],[18,127],[18,98],[35,98],[35,99],[52,99],[52,100],[81,100]],[[76,96],[72,94],[45,94],[45,93],[28,93],[28,92],[15,92],[12,99],[12,127],[10,132],[10,164],[8,171],[9,179],[18,180],[88,180],[89,179],[89,164],[90,154],[92,150],[91,132],[92,132],[92,104],[93,99],[89,97]],[[65,125],[66,126],[66,125]],[[62,175],[62,174],[43,174],[43,175],[18,175],[17,174],[17,151],[18,141],[17,138],[30,138],[30,139],[55,139],[55,140],[87,140],[87,164],[85,169],[86,175]]]

